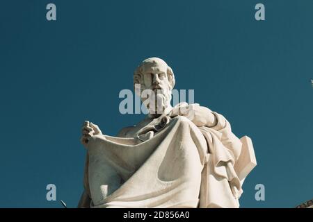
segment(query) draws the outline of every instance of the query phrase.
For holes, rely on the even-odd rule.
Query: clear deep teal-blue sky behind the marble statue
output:
[[[265,21],[255,20],[257,3]],[[313,198],[312,10],[312,0],[1,1],[0,207],[76,207],[81,124],[116,135],[142,119],[120,114],[118,94],[152,56],[172,67],[176,89],[195,89],[196,103],[252,138],[258,165],[241,207]],[[46,200],[50,183],[58,201]]]

